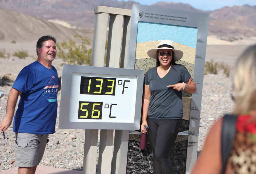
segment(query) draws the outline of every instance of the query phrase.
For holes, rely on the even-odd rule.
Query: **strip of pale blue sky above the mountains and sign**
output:
[[[120,1],[120,0],[118,0]],[[128,0],[125,0],[128,1]],[[196,9],[201,10],[216,10],[221,9],[222,7],[229,6],[232,7],[234,5],[242,6],[248,4],[250,6],[256,5],[256,0],[133,0],[135,2],[140,3],[141,5],[152,5],[156,2],[181,2],[187,3]]]

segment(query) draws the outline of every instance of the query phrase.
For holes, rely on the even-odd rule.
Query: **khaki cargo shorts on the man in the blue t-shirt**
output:
[[[45,152],[48,135],[15,132],[15,166],[34,167],[39,165]]]

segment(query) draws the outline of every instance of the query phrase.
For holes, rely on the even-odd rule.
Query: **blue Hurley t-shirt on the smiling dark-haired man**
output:
[[[35,61],[21,70],[12,88],[22,92],[14,116],[13,131],[55,133],[59,88],[55,67],[48,69]]]

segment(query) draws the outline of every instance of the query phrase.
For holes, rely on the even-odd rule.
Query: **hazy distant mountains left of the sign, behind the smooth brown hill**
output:
[[[41,19],[59,19],[72,26],[94,27],[94,7],[108,6],[132,9],[134,1],[113,0],[0,0],[0,7],[29,14]]]

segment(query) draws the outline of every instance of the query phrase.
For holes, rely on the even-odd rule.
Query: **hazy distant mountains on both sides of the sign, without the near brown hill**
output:
[[[134,1],[113,0],[0,0],[0,7],[29,14],[39,19],[66,22],[74,28],[93,28],[94,7],[109,6],[132,9]],[[256,38],[256,6],[223,7],[214,11],[195,9],[189,4],[158,2],[151,6],[207,12],[208,35],[228,41]],[[2,20],[2,19],[0,19]],[[2,27],[1,27],[2,28]]]

